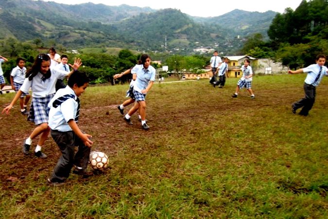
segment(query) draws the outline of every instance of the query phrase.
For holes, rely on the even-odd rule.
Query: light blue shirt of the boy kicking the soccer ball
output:
[[[68,100],[64,101],[62,104],[54,108],[52,106],[53,101],[66,94],[74,95],[75,99],[69,98]],[[48,125],[52,130],[57,130],[60,132],[72,131],[67,122],[71,119],[74,120],[76,116],[78,106],[76,99],[77,96],[74,90],[72,90],[72,88],[70,88],[68,85],[65,88],[59,89],[56,92],[55,96],[53,96],[51,101],[48,103],[48,107],[50,108]]]

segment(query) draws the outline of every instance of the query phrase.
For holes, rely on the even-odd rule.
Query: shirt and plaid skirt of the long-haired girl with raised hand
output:
[[[48,122],[48,103],[54,96],[55,84],[57,79],[63,79],[69,72],[56,68],[51,68],[51,77],[46,79],[44,74],[38,72],[30,81],[25,78],[24,83],[19,88],[23,93],[27,93],[29,88],[32,89],[32,101],[30,107],[29,121],[35,122],[35,125]]]

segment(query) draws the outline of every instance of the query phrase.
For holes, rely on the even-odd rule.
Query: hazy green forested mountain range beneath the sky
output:
[[[201,18],[176,9],[66,5],[41,0],[1,0],[0,7],[0,39],[38,38],[46,47],[61,44],[68,49],[119,47],[173,53],[190,53],[197,47],[236,50],[242,46],[237,35],[266,35],[275,16],[274,12],[234,10],[219,17]]]

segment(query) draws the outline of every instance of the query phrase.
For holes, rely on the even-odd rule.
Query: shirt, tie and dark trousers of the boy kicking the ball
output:
[[[85,146],[68,124],[71,119],[78,122],[80,113],[80,100],[72,88],[66,86],[58,90],[48,107],[51,135],[62,152],[49,179],[51,182],[64,182],[69,177],[73,165],[87,167],[91,148]],[[75,146],[78,146],[76,154]]]

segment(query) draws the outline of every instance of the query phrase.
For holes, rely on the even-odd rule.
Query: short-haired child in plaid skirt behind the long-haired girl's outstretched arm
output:
[[[13,90],[16,92],[19,90],[21,85],[24,83],[26,76],[25,59],[17,58],[17,67],[14,67],[10,74],[10,83]],[[25,101],[24,101],[25,97]],[[20,112],[22,115],[29,115],[27,111],[27,103],[31,98],[30,93],[23,93],[19,98]]]

